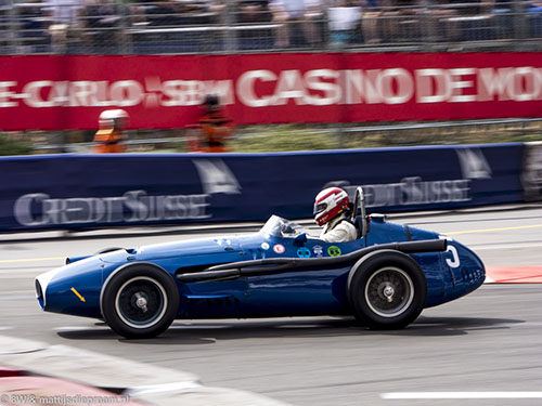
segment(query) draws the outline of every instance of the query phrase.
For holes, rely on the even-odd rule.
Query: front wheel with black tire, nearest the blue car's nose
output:
[[[101,296],[105,323],[130,339],[166,331],[179,311],[179,291],[166,271],[151,264],[122,267],[106,280]]]

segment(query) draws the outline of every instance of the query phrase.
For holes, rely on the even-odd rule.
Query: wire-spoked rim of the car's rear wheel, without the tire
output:
[[[398,267],[376,271],[365,286],[369,307],[382,317],[396,317],[409,309],[414,299],[412,278]]]

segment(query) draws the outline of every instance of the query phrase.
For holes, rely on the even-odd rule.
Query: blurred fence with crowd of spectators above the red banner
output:
[[[542,48],[534,2],[0,0],[0,54]],[[284,5],[285,4],[285,5]]]

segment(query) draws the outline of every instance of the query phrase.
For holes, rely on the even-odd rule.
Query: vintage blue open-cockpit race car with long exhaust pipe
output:
[[[104,319],[120,336],[150,338],[176,319],[354,315],[399,329],[423,309],[477,289],[481,260],[437,233],[365,214],[358,239],[328,244],[272,215],[258,233],[68,258],[36,278],[48,312]]]

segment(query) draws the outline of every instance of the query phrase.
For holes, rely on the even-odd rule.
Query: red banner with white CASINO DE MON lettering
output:
[[[0,57],[0,130],[194,123],[219,94],[237,125],[540,117],[542,53]]]

